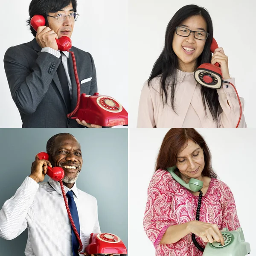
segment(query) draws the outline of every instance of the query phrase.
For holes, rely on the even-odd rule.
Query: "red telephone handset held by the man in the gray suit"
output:
[[[34,15],[31,20],[30,20],[30,25],[32,26],[35,31],[38,30],[39,26],[44,26],[45,25],[45,18],[42,15]],[[72,47],[71,39],[68,36],[62,36],[59,39],[56,39],[58,49],[63,52],[63,51],[68,51]]]

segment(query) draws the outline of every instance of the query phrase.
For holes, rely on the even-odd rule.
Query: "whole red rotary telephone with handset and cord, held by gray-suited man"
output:
[[[38,26],[45,25],[45,19],[42,15],[35,15],[31,18],[30,24],[35,31]],[[93,96],[82,93],[80,96],[80,82],[76,69],[76,58],[74,52],[71,52],[71,39],[62,36],[56,39],[60,51],[69,51],[73,60],[74,73],[77,84],[77,103],[76,108],[67,115],[70,119],[78,118],[87,123],[100,125],[102,127],[111,127],[116,125],[128,126],[128,113],[125,108],[110,96],[94,93]],[[81,102],[81,105],[80,105]],[[76,114],[76,115],[75,115]]]

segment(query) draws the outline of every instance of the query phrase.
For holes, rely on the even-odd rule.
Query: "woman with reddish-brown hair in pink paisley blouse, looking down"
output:
[[[172,166],[177,167],[174,172],[185,183],[190,178],[203,182],[199,221],[195,220],[199,192],[178,183],[166,170]],[[220,232],[224,227],[240,227],[233,194],[217,179],[209,148],[195,129],[174,128],[164,137],[148,186],[143,226],[154,243],[156,256],[201,256],[191,233],[204,248],[207,242],[224,244]]]

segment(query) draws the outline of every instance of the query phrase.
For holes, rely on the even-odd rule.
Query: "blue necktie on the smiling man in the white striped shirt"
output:
[[[76,208],[76,203],[75,203],[75,200],[74,200],[73,191],[67,192],[66,195],[67,195],[67,198],[68,198],[68,206],[70,207],[70,212],[71,212],[73,221],[75,223],[77,232],[79,233],[79,236],[80,236],[79,216],[78,216],[78,212],[77,212],[77,208]],[[72,226],[71,226],[71,230],[72,230],[72,249],[73,249],[73,255],[74,256],[79,256],[79,253],[78,253],[79,242],[78,242],[78,240],[76,238],[76,234],[75,234]]]

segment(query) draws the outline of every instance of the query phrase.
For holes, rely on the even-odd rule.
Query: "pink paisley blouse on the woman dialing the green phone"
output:
[[[156,256],[201,256],[192,242],[191,233],[174,244],[159,244],[170,225],[195,220],[198,196],[177,183],[166,170],[157,170],[148,186],[148,200],[143,227],[153,242]],[[240,227],[236,204],[230,188],[221,180],[211,178],[208,190],[202,197],[200,219],[217,224],[221,230],[236,230]],[[196,236],[198,243],[206,243]]]

